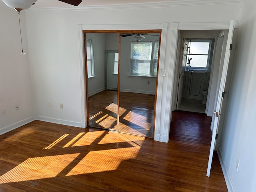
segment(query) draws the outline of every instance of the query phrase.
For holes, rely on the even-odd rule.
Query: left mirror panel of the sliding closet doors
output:
[[[86,33],[88,126],[117,130],[118,44],[118,33]]]

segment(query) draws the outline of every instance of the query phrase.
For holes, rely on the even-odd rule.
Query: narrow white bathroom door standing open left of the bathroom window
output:
[[[186,67],[186,59],[188,52],[188,40],[183,39],[182,45],[182,63],[180,64],[180,74],[179,74],[179,85],[178,85],[178,99],[177,99],[177,109],[180,106],[182,100],[182,91],[183,91],[183,83],[184,83],[184,73]]]

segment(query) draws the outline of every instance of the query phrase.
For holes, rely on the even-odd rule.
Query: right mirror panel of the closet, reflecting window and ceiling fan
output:
[[[119,132],[154,136],[158,48],[159,33],[121,34]]]

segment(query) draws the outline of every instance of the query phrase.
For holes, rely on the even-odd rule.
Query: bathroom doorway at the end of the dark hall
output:
[[[176,110],[212,116],[223,42],[221,30],[180,30]],[[210,109],[210,110],[209,110]],[[209,112],[208,112],[209,110]]]

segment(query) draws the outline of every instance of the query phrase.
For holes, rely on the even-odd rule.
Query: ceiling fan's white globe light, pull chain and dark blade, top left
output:
[[[20,12],[24,9],[30,8],[32,5],[35,4],[37,0],[3,0],[4,4],[6,4],[8,7],[15,9],[18,12],[19,16],[19,24],[20,24]],[[78,6],[82,0],[58,0],[62,1],[64,3],[68,3],[74,6]],[[23,51],[22,46],[22,37],[21,37],[21,29],[20,29],[20,40],[21,40],[21,48],[22,52],[20,54],[24,55],[25,52]]]

